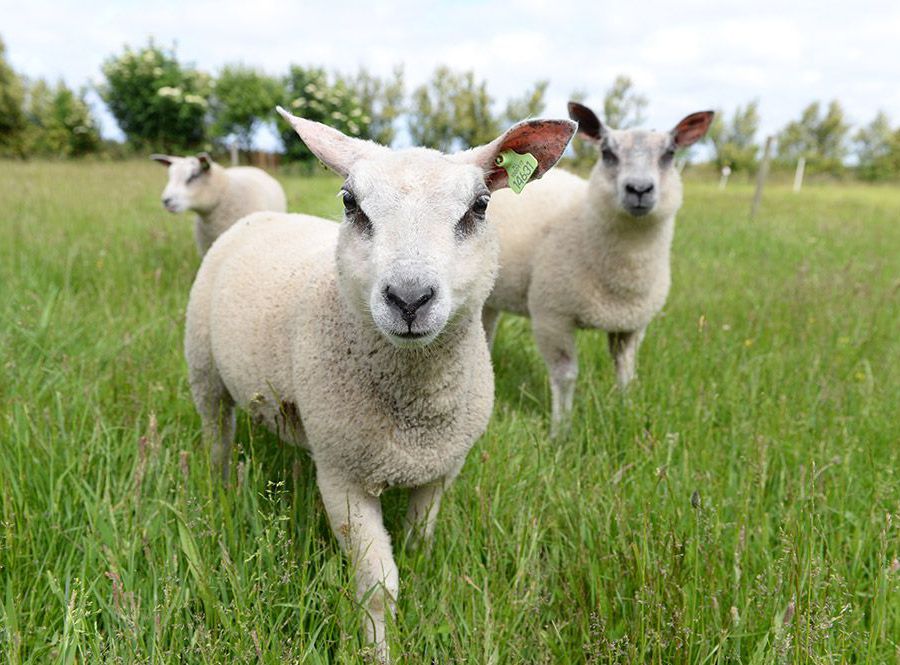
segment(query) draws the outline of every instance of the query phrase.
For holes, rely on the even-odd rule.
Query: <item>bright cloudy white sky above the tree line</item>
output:
[[[855,124],[900,123],[900,2],[818,0],[0,0],[0,36],[29,77],[81,85],[124,44],[153,36],[183,62],[269,73],[289,63],[342,71],[405,68],[408,87],[438,64],[474,69],[500,101],[550,79],[547,115],[573,90],[600,106],[617,74],[650,100],[648,125],[758,98],[777,131],[813,100],[837,98]],[[104,131],[115,132],[106,116]]]

